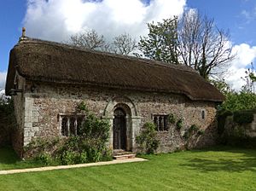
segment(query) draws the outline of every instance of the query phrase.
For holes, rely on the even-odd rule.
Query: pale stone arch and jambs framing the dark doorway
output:
[[[115,109],[121,108],[126,113],[126,149],[127,151],[133,151],[136,149],[135,137],[139,133],[141,118],[138,116],[137,107],[131,101],[130,98],[126,96],[113,97],[112,100],[108,101],[105,107],[103,117],[109,120],[111,124],[109,132],[109,148],[113,149],[113,112]]]

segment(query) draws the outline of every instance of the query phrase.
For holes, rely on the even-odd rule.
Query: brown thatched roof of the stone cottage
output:
[[[224,100],[212,84],[190,67],[32,38],[21,39],[10,51],[7,93],[13,88],[15,69],[24,78],[42,82],[175,93],[194,101]]]

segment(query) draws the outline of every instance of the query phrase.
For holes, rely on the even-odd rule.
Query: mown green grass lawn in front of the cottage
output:
[[[15,166],[1,158],[0,152],[0,169]],[[256,190],[256,149],[213,148],[145,158],[132,164],[2,175],[0,190]]]

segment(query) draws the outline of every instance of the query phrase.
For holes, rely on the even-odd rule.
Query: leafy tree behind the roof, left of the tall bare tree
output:
[[[141,37],[138,43],[143,55],[156,61],[178,64],[177,17],[156,24],[148,23],[148,30],[148,36]]]

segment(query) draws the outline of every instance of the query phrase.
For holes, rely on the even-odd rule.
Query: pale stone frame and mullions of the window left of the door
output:
[[[70,120],[74,118],[74,136],[77,136],[77,126],[78,126],[78,119],[79,117],[82,117],[83,119],[85,118],[84,113],[59,113],[58,114],[58,121],[59,121],[59,136],[65,136],[62,135],[62,119],[67,118],[67,132],[68,135],[71,135],[71,130],[70,130]]]

